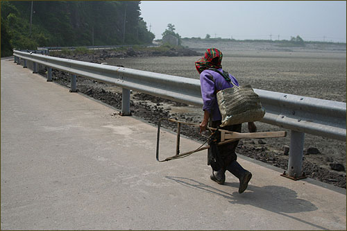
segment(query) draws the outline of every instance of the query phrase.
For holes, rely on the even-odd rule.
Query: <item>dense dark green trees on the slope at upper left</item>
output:
[[[148,44],[140,1],[1,1],[1,56],[37,46]],[[31,11],[33,9],[33,11]]]

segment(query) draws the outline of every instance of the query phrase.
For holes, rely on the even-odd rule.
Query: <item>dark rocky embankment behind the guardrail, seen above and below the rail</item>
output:
[[[182,55],[180,51],[171,50],[166,55]],[[187,49],[186,55],[201,55],[195,51]],[[162,56],[165,53],[154,52],[154,51],[134,51],[128,49],[127,51],[98,51],[94,54],[87,55],[59,55],[61,58],[71,58],[75,60],[82,60],[86,62],[105,62],[108,58],[126,58],[126,57],[146,57],[146,55]],[[58,70],[53,70],[53,81],[69,87],[70,78],[69,76]],[[121,109],[121,90],[117,87],[98,83],[93,80],[87,80],[85,78],[77,78],[78,92],[90,96],[94,99],[107,103],[118,110]],[[160,118],[173,118],[180,121],[189,121],[193,123],[200,123],[201,116],[194,113],[180,113],[179,108],[184,108],[185,112],[192,110],[192,106],[185,105],[183,103],[176,103],[166,99],[160,99],[147,94],[133,92],[130,100],[130,108],[133,115],[140,117],[149,123],[158,123]],[[173,110],[175,109],[175,110]],[[163,126],[176,131],[176,124],[168,123],[164,121]],[[192,126],[183,126],[181,128],[181,134],[191,137],[192,139],[205,141],[205,138],[198,135],[197,128]],[[255,160],[266,162],[273,166],[278,166],[281,169],[287,170],[288,154],[285,146],[278,148],[266,144],[266,139],[244,139],[239,142],[237,147],[237,153],[251,157]],[[344,165],[339,163],[330,163],[330,167],[324,167],[320,163],[324,162],[327,165],[328,160],[324,155],[320,155],[319,151],[315,150],[314,147],[307,148],[305,150],[305,157],[303,159],[303,171],[309,178],[321,180],[331,185],[346,188],[346,171]],[[329,166],[329,165],[328,165]],[[336,170],[332,170],[336,169]],[[337,171],[339,170],[339,171]]]

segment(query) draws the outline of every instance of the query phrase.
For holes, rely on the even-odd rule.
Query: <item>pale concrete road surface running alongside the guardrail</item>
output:
[[[157,128],[117,112],[1,59],[1,230],[346,230],[346,189],[239,155],[238,194],[205,151],[157,162]],[[162,131],[160,158],[175,145]]]

